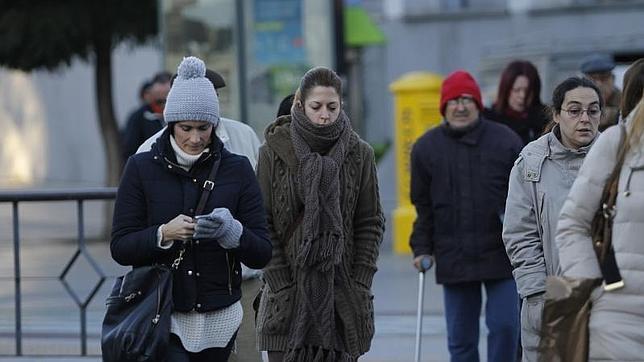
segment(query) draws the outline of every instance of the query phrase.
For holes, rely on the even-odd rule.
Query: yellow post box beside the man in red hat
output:
[[[398,207],[393,212],[393,248],[397,254],[411,252],[409,237],[416,210],[409,199],[411,149],[427,129],[441,121],[440,87],[443,78],[428,72],[412,72],[389,85],[394,94],[396,122],[396,178]]]

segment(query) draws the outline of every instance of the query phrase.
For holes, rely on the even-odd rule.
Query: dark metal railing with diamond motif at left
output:
[[[18,206],[21,202],[30,201],[76,201],[76,210],[78,218],[78,243],[77,249],[72,258],[68,261],[63,271],[58,276],[58,280],[72,297],[80,310],[80,339],[81,355],[87,356],[87,305],[92,301],[94,295],[103,285],[106,274],[98,263],[92,258],[87,251],[85,243],[85,222],[83,203],[88,200],[113,200],[116,198],[115,187],[98,187],[84,188],[75,190],[22,190],[22,191],[2,191],[0,192],[0,203],[12,203],[13,217],[13,269],[14,269],[14,288],[15,288],[15,338],[16,338],[16,356],[23,355],[22,349],[22,294],[21,294],[21,267],[20,267],[20,219]],[[96,271],[99,279],[89,294],[82,299],[71,288],[65,280],[65,276],[79,256],[83,256],[90,266]]]

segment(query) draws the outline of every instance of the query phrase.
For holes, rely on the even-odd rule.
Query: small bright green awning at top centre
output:
[[[386,41],[376,24],[361,6],[344,8],[344,44],[350,47],[378,45]]]

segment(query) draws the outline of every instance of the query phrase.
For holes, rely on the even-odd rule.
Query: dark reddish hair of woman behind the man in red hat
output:
[[[508,109],[508,98],[510,98],[512,86],[514,86],[514,81],[521,75],[528,78],[528,94],[526,94],[526,98],[530,100],[530,104],[526,105],[526,109],[543,107],[540,98],[541,78],[539,78],[537,68],[527,60],[515,60],[508,64],[501,73],[496,102],[494,103],[494,109],[498,113],[502,114]]]

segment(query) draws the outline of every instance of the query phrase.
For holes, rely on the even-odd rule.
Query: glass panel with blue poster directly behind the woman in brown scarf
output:
[[[332,2],[247,0],[247,123],[263,133],[313,66],[334,61]]]

